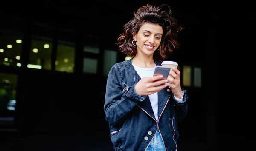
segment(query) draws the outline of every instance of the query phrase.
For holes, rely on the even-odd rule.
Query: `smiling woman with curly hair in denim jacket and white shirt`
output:
[[[171,83],[153,73],[179,46],[181,29],[167,5],[140,7],[125,24],[119,50],[133,58],[111,68],[104,105],[115,151],[177,150],[177,120],[187,113],[186,90],[178,69],[169,73]]]

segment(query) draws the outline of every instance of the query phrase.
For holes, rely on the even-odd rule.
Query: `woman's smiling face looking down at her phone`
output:
[[[137,34],[134,34],[134,41],[137,41],[137,54],[153,57],[154,51],[160,45],[163,35],[163,28],[160,25],[144,23]]]

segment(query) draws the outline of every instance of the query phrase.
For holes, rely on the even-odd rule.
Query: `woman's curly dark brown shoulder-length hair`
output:
[[[117,39],[118,49],[134,57],[137,54],[137,46],[132,45],[133,35],[138,33],[143,23],[153,23],[163,28],[163,36],[159,48],[154,52],[155,60],[165,60],[175,48],[179,47],[177,33],[183,29],[177,24],[177,19],[172,17],[170,6],[163,4],[160,6],[140,7],[134,17],[123,26],[123,33]]]

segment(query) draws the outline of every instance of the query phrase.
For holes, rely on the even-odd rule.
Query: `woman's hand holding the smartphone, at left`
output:
[[[140,96],[146,96],[158,92],[165,88],[168,80],[160,80],[163,76],[144,77],[136,85],[135,91]],[[158,86],[160,85],[160,86]]]

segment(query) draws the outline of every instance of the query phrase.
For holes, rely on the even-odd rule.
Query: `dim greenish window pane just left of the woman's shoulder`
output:
[[[111,50],[104,50],[104,62],[103,62],[103,75],[108,76],[108,72],[112,66],[116,63],[117,52]]]

